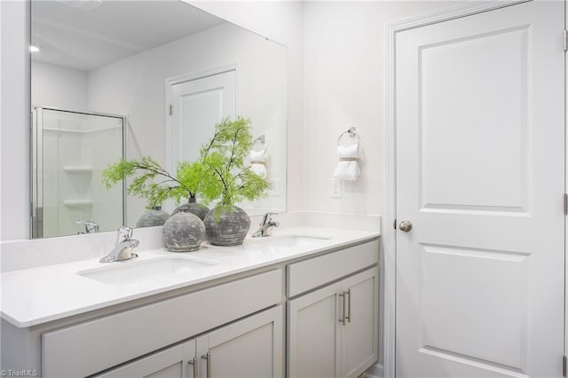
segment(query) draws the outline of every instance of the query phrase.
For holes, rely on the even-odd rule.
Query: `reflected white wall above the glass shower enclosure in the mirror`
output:
[[[32,105],[87,110],[87,73],[77,69],[34,62]]]

